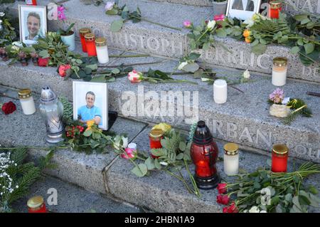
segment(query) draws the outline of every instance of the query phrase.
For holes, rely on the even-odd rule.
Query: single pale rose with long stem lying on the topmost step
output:
[[[130,12],[128,6],[124,5],[122,7],[119,7],[117,4],[114,3],[114,1],[107,2],[107,4],[105,5],[105,14],[119,15],[122,17],[122,19],[112,22],[111,28],[110,28],[112,32],[120,31],[124,22],[126,21],[132,21],[133,23],[138,23],[139,21],[146,21],[149,23],[154,23],[159,26],[163,26],[165,28],[171,28],[174,30],[181,31],[181,28],[174,28],[172,26],[167,26],[165,24],[150,21],[148,19],[143,18],[139,7],[137,8],[137,11]]]

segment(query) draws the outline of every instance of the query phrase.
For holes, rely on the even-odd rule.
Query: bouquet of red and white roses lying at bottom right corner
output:
[[[307,212],[309,206],[319,207],[320,199],[314,186],[305,186],[303,180],[319,173],[320,166],[309,162],[288,173],[260,168],[239,174],[235,183],[219,184],[217,202],[227,205],[223,213]]]

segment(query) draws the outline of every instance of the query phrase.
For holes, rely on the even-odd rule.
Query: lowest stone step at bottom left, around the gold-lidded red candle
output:
[[[57,204],[52,204],[53,192],[57,190]],[[139,213],[139,208],[131,204],[114,201],[110,196],[97,194],[61,181],[52,176],[43,176],[36,181],[27,196],[13,204],[18,213],[27,213],[27,201],[33,196],[43,196],[46,208],[53,213]],[[51,196],[51,197],[50,197]],[[50,202],[50,204],[48,203]]]

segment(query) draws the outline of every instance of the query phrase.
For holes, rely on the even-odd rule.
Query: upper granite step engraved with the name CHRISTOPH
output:
[[[181,28],[185,20],[191,20],[199,24],[202,19],[212,18],[211,7],[199,7],[179,5],[154,1],[119,1],[122,5],[126,3],[129,9],[135,10],[137,6],[142,11],[142,16],[151,21],[164,23],[170,26]],[[39,1],[39,5],[46,5],[48,1]],[[65,3],[68,8],[68,21],[48,21],[50,31],[57,30],[60,26],[68,26],[75,22],[75,31],[82,27],[90,27],[98,36],[107,37],[108,45],[128,51],[151,53],[158,56],[170,58],[181,58],[189,53],[189,42],[187,38],[188,29],[176,31],[170,28],[163,28],[145,21],[124,23],[121,31],[112,33],[110,26],[112,21],[119,19],[118,16],[106,16],[103,6],[85,6],[78,1],[71,0]],[[18,4],[11,4],[11,9],[18,13]],[[88,12],[84,17],[82,12]],[[89,13],[90,12],[90,13]],[[78,35],[78,34],[77,34]],[[220,65],[228,68],[240,68],[253,70],[259,73],[272,72],[272,59],[277,56],[284,56],[289,59],[288,76],[301,80],[320,82],[319,71],[316,67],[305,67],[297,55],[292,55],[290,49],[284,46],[270,45],[267,51],[257,56],[251,53],[250,45],[236,41],[233,38],[216,38],[228,48],[225,51],[220,45],[210,48],[208,51],[200,51],[201,60],[211,65]]]

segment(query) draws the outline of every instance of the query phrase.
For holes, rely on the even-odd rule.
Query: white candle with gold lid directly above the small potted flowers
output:
[[[275,86],[283,86],[287,82],[288,59],[273,58],[272,66],[272,84]]]

